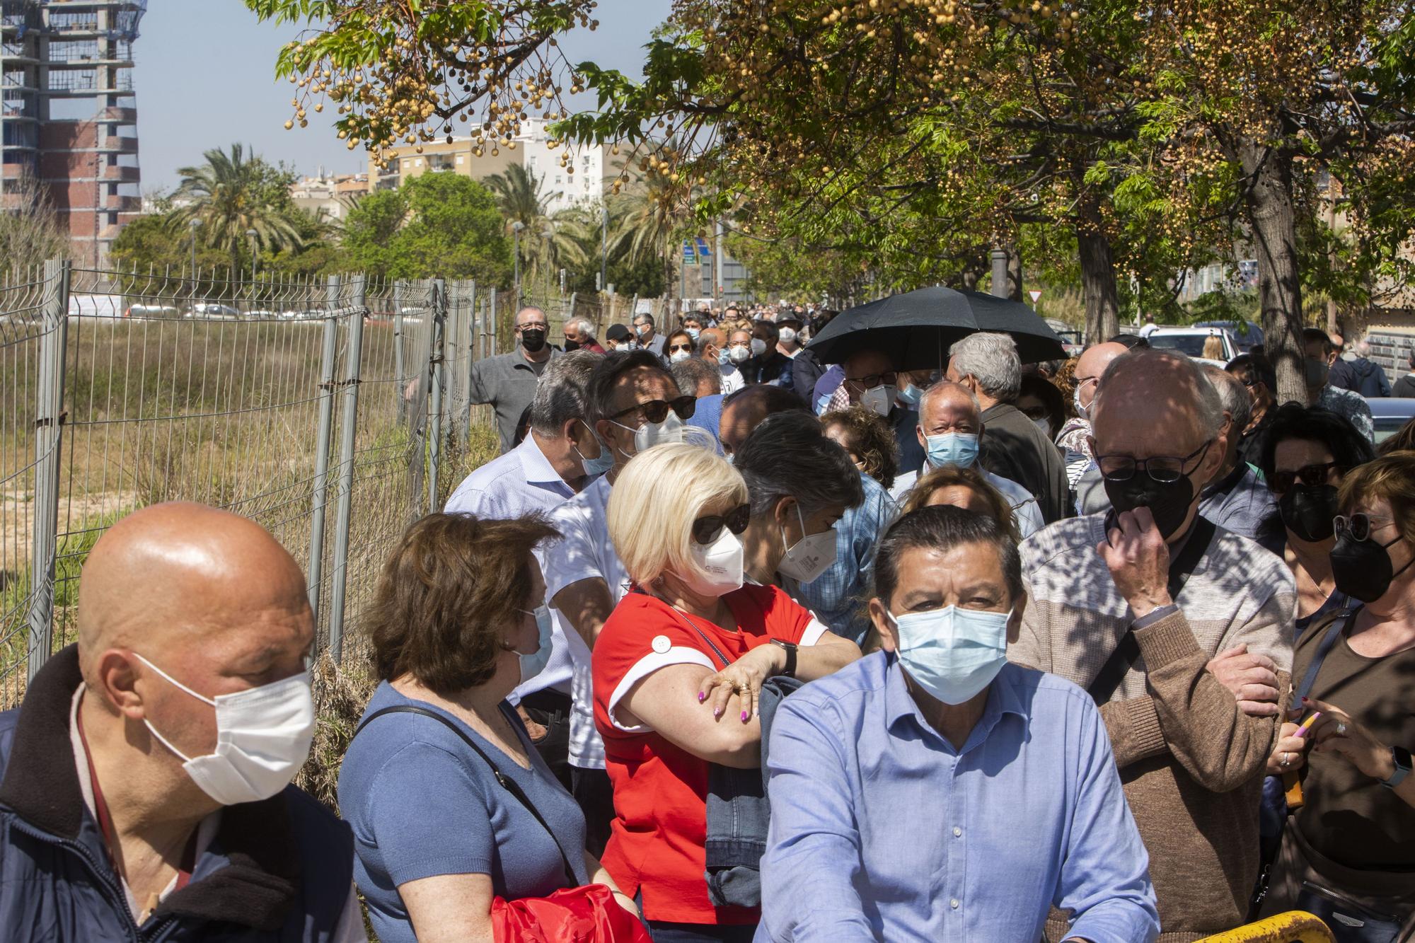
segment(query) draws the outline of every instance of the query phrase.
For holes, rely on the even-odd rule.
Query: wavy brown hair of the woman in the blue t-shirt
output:
[[[444,697],[490,681],[502,630],[531,609],[531,551],[556,537],[539,515],[429,514],[412,524],[366,616],[378,678],[409,674]]]

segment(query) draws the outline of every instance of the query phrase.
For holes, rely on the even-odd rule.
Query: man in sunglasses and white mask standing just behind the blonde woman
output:
[[[596,857],[608,841],[614,796],[604,772],[604,743],[594,729],[590,653],[630,585],[610,541],[610,488],[640,452],[682,442],[695,408],[696,398],[678,391],[658,355],[648,350],[607,354],[586,387],[586,419],[603,446],[593,469],[603,474],[550,513],[560,539],[541,551],[546,599],[570,627],[570,791],[584,811],[586,844]]]

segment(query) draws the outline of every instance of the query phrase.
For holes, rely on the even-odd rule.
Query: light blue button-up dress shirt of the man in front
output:
[[[758,942],[1036,943],[1159,935],[1149,857],[1081,688],[1007,664],[962,749],[884,651],[777,709]],[[1067,937],[1070,939],[1070,937]]]

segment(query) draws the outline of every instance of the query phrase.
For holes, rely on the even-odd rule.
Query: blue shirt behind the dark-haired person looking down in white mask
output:
[[[846,508],[835,524],[835,562],[809,583],[792,583],[790,589],[831,631],[855,644],[870,629],[865,593],[874,585],[874,549],[899,514],[899,505],[879,481],[862,473],[860,484],[865,501]]]

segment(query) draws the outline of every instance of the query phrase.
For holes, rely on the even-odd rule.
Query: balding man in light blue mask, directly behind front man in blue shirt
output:
[[[945,379],[925,389],[918,401],[918,426],[916,429],[918,443],[925,453],[924,469],[906,471],[896,477],[890,497],[903,504],[904,497],[921,474],[945,464],[957,464],[962,469],[974,467],[986,432],[981,415],[978,398],[966,387]],[[981,466],[978,470],[982,471],[988,484],[998,488],[1007,500],[1017,532],[1023,538],[1032,537],[1043,528],[1041,508],[1037,507],[1032,491]]]

